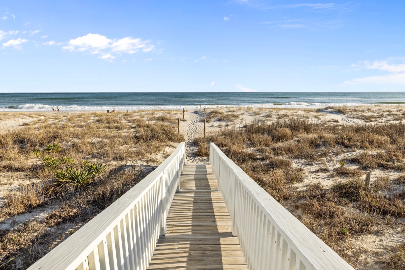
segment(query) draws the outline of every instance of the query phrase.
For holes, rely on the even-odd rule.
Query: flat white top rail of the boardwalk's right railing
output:
[[[296,219],[294,215],[279,204],[269,193],[260,187],[249,175],[239,168],[239,166],[232,162],[221,149],[212,142],[211,146],[234,172],[249,196],[263,211],[264,215],[270,219],[282,238],[293,248],[301,261],[307,261],[307,264],[305,264],[307,269],[354,269],[327,244],[320,240],[318,236],[313,234],[301,221]],[[237,200],[237,198],[235,199]]]

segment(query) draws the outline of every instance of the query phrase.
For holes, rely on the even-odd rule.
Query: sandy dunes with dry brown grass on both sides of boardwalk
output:
[[[180,135],[182,111],[3,113],[0,268],[25,269],[186,141],[190,163],[215,142],[354,268],[401,269],[403,108],[208,108],[206,138],[203,110],[185,113]],[[90,180],[58,182],[69,170]]]

